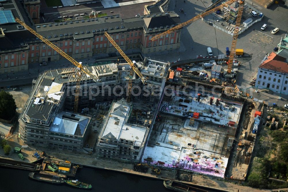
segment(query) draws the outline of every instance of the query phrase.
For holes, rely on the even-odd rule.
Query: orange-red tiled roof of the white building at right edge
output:
[[[259,68],[278,71],[280,73],[288,73],[288,63],[286,59],[272,52],[267,59],[259,66]]]

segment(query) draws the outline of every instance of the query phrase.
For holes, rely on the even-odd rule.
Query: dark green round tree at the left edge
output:
[[[11,120],[16,113],[16,104],[13,96],[6,91],[0,92],[0,118]]]

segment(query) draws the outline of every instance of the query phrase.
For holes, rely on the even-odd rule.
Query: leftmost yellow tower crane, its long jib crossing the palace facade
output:
[[[64,51],[62,51],[60,48],[55,46],[53,43],[48,41],[45,37],[42,37],[39,35],[36,31],[31,29],[28,25],[26,25],[24,22],[22,22],[20,19],[15,19],[18,23],[20,23],[23,27],[25,27],[28,31],[33,33],[36,37],[41,39],[45,44],[49,45],[52,49],[57,51],[62,57],[65,57],[68,59],[73,65],[77,67],[77,82],[76,82],[76,89],[75,89],[75,103],[74,103],[74,112],[76,113],[78,111],[78,101],[79,101],[79,90],[80,90],[80,80],[81,80],[81,71],[90,76],[92,79],[99,80],[98,77],[94,76],[86,67],[82,65],[82,62],[75,61],[72,57],[70,57],[68,54],[66,54]]]

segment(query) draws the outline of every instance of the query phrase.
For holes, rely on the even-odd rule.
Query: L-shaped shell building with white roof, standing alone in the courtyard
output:
[[[125,99],[113,101],[103,120],[97,142],[97,156],[139,160],[147,138],[146,127],[128,124],[132,106]]]

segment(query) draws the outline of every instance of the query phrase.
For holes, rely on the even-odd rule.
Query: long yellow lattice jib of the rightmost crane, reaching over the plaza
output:
[[[163,33],[160,33],[158,35],[155,35],[154,37],[151,38],[152,41],[155,41],[156,39],[159,39],[160,37],[163,37],[164,35],[166,34],[169,34],[169,33],[172,33],[173,31],[177,31],[178,29],[181,29],[182,27],[194,22],[194,21],[197,21],[198,19],[206,16],[206,15],[209,15],[210,13],[213,13],[223,7],[227,7],[228,5],[234,3],[235,1],[238,1],[238,0],[229,0],[229,1],[226,1],[225,3],[222,3],[221,5],[213,8],[213,9],[206,9],[204,10],[202,13],[200,13],[199,15],[195,16],[194,18],[188,20],[188,21],[185,21],[179,25],[176,25],[175,27],[172,27],[171,29],[167,30],[167,31],[164,31]]]

